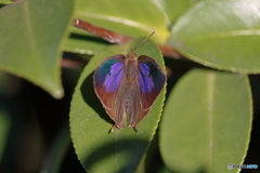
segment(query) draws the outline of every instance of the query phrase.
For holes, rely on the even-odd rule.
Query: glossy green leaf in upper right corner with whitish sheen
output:
[[[260,1],[202,1],[180,17],[168,43],[203,65],[260,72]]]

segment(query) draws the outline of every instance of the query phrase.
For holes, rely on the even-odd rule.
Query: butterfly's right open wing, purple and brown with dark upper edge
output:
[[[139,64],[139,99],[135,103],[139,115],[128,118],[128,127],[136,128],[138,123],[147,115],[166,82],[166,76],[156,62],[145,55],[138,59]],[[140,108],[139,108],[140,107]]]

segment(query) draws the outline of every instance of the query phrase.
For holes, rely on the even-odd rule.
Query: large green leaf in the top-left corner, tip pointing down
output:
[[[73,6],[73,0],[22,0],[3,6],[0,10],[0,69],[61,97],[61,46],[68,35]]]

